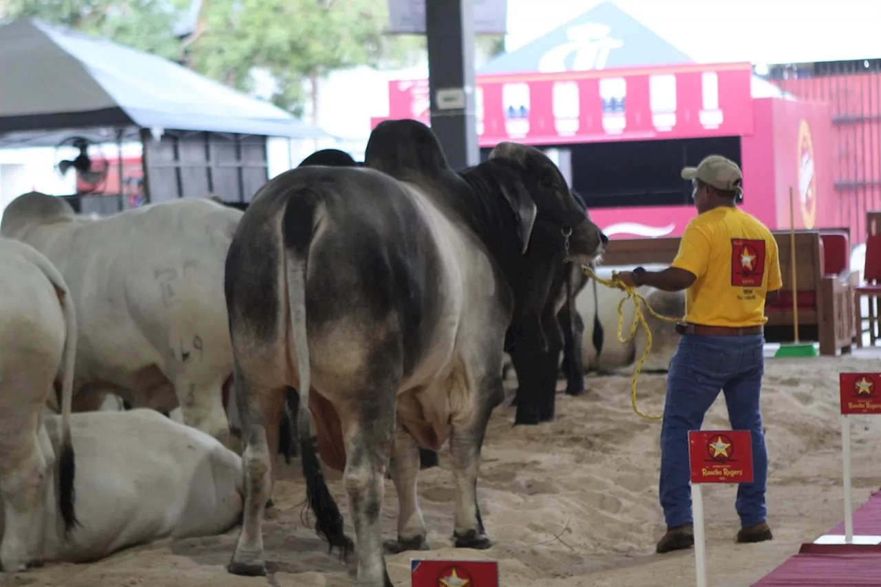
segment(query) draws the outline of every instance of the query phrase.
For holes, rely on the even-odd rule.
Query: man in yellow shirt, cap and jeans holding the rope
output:
[[[687,290],[661,428],[660,498],[667,532],[658,553],[694,544],[688,431],[700,430],[720,390],[731,428],[749,430],[752,437],[755,480],[737,487],[737,541],[773,538],[766,520],[767,451],[759,392],[765,304],[782,285],[777,242],[758,219],[737,208],[743,177],[736,163],[710,155],[698,167],[685,167],[682,177],[692,181],[698,216],[685,227],[673,263],[663,271],[637,267],[618,275],[629,286]]]

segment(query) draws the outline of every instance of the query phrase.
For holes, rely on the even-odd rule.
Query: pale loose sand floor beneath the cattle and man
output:
[[[707,486],[711,586],[750,585],[795,554],[802,542],[840,522],[838,374],[870,371],[878,365],[877,356],[766,361],[762,409],[770,453],[768,512],[774,540],[735,544],[737,487]],[[508,384],[510,399],[515,385]],[[559,396],[559,418],[548,425],[512,428],[513,409],[502,406],[495,412],[478,489],[485,524],[495,541],[490,550],[450,547],[453,479],[446,450],[441,453],[441,469],[422,472],[419,493],[433,550],[389,556],[389,575],[396,585],[410,585],[411,556],[496,559],[503,587],[644,587],[693,582],[692,550],[655,554],[655,541],[664,529],[657,501],[660,422],[640,420],[632,412],[627,375],[589,376],[588,384],[591,391],[586,397]],[[642,412],[660,412],[664,386],[663,375],[640,377]],[[857,416],[853,420],[853,499],[858,504],[881,483],[876,456],[881,419]],[[727,427],[720,396],[704,428]],[[141,546],[93,564],[50,564],[29,572],[26,578],[6,577],[0,584],[353,585],[354,559],[347,567],[338,561],[336,552],[327,554],[325,543],[300,521],[304,489],[297,465],[297,461],[281,465],[276,508],[269,510],[264,527],[269,578],[226,573],[237,527],[218,537]],[[330,474],[329,479],[345,513],[339,475]],[[389,481],[383,510],[386,538],[395,534],[396,509],[395,489]],[[88,524],[86,519],[82,522]],[[351,520],[347,519],[347,526],[354,537]]]

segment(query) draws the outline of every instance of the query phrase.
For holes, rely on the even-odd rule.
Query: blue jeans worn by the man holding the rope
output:
[[[721,390],[732,430],[752,436],[754,480],[737,487],[737,515],[743,526],[766,521],[768,457],[759,393],[765,373],[761,334],[705,337],[685,334],[670,360],[661,427],[660,497],[668,527],[692,524],[688,431],[700,430]]]

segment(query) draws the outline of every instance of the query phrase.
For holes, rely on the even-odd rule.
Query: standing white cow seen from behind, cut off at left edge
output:
[[[41,560],[45,505],[60,510],[62,537],[76,524],[70,398],[77,314],[70,298],[61,273],[45,256],[0,238],[0,508],[10,512],[0,524],[0,565],[11,572]],[[43,405],[58,379],[62,430],[57,452],[47,452],[40,435]],[[58,502],[50,475],[58,480]]]

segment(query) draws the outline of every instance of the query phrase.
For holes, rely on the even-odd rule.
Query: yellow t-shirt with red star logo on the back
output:
[[[670,266],[698,278],[685,295],[689,323],[734,328],[764,324],[765,296],[782,286],[774,235],[759,219],[727,206],[688,223]]]

